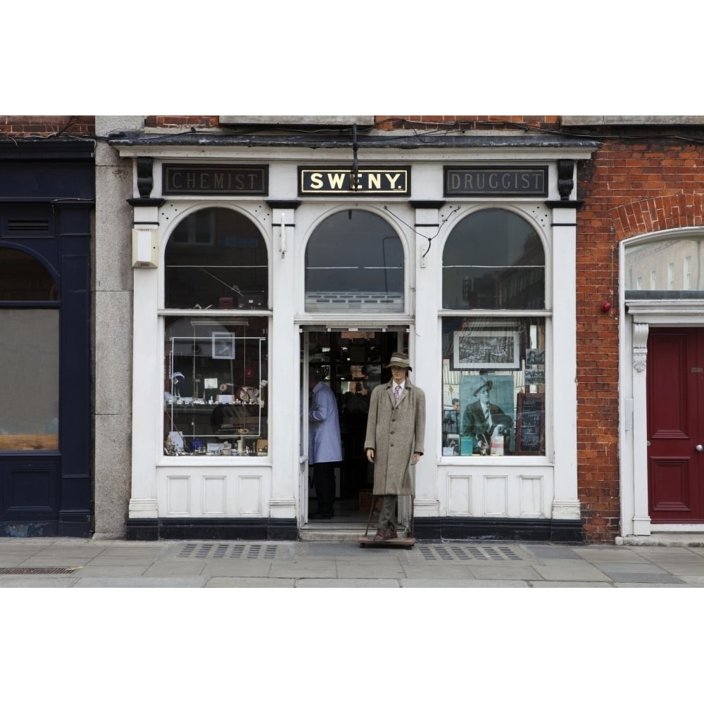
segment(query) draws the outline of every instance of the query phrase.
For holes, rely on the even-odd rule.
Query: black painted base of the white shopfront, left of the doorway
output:
[[[293,518],[128,518],[127,540],[297,540]]]

